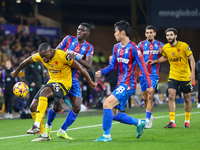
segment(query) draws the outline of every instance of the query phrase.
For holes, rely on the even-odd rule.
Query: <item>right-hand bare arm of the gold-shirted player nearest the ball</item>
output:
[[[76,60],[73,61],[71,67],[78,69],[81,72],[81,74],[86,78],[86,80],[89,83],[89,86],[91,88],[94,89],[97,86],[97,83],[92,81],[92,79],[90,78],[90,75],[85,70],[85,68],[83,68],[83,66],[81,64],[79,64]]]

